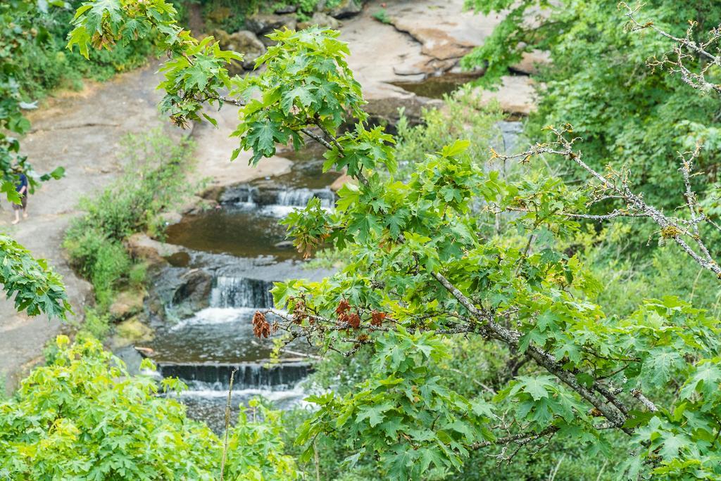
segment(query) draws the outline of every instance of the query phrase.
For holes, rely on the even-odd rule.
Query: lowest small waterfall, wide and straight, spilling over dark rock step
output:
[[[271,387],[273,390],[290,390],[313,371],[313,364],[309,361],[281,361],[279,364],[262,362],[158,364],[158,373],[162,377],[177,377],[191,390],[227,391],[233,369],[237,369],[233,390]]]

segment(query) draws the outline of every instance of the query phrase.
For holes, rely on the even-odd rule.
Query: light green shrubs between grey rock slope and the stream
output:
[[[123,176],[94,197],[81,199],[84,215],[68,228],[64,246],[71,263],[87,277],[101,308],[133,274],[123,240],[138,232],[162,231],[163,212],[180,205],[196,187],[186,180],[192,144],[161,130],[128,135],[123,141]]]

